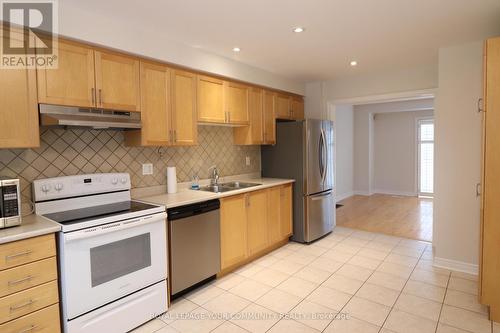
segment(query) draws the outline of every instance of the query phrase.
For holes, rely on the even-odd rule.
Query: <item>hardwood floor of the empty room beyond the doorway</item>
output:
[[[374,194],[339,203],[338,226],[432,242],[432,199]]]

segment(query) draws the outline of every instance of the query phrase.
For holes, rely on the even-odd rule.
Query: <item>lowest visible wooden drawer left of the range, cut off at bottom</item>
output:
[[[2,333],[59,333],[60,331],[59,304],[0,325]]]

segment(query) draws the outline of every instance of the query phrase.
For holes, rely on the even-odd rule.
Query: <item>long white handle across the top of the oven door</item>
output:
[[[138,217],[135,219],[124,220],[116,223],[104,224],[97,227],[91,227],[88,229],[69,232],[64,235],[64,242],[69,243],[75,240],[91,238],[115,231],[122,231],[126,229],[135,228],[145,224],[166,221],[166,219],[167,219],[167,213],[158,213],[154,215]]]

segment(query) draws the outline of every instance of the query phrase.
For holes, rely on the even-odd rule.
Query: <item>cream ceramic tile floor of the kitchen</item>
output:
[[[488,332],[477,277],[432,266],[430,243],[337,227],[176,300],[134,333]]]

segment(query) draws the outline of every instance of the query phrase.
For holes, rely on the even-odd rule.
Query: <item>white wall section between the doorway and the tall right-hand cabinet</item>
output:
[[[440,49],[433,241],[439,265],[477,268],[482,85],[482,42]]]

